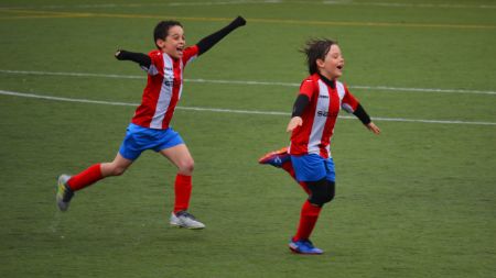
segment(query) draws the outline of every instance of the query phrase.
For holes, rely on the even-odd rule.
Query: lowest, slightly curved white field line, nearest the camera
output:
[[[34,99],[45,99],[45,100],[53,100],[53,101],[68,101],[68,102],[79,102],[79,103],[106,104],[106,105],[125,105],[125,107],[137,107],[138,105],[138,103],[129,103],[129,102],[73,99],[73,98],[52,97],[52,96],[43,96],[43,94],[36,94],[36,93],[24,93],[24,92],[4,91],[4,90],[0,90],[0,94],[14,96],[14,97],[21,97],[21,98],[34,98]],[[279,112],[279,111],[235,110],[235,109],[198,108],[198,107],[176,107],[176,109],[177,110],[201,111],[201,112],[217,112],[217,113],[284,115],[284,116],[290,115],[290,113],[288,113],[288,112]],[[339,115],[339,118],[341,119],[355,119],[355,116],[349,116],[349,115]],[[443,121],[443,120],[421,120],[421,119],[380,118],[380,116],[374,118],[374,121],[435,123],[435,124],[496,125],[496,123],[494,123],[494,122]]]

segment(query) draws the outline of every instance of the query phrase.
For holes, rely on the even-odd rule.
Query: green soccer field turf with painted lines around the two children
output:
[[[186,43],[236,30],[184,74],[172,125],[195,159],[191,212],[169,226],[175,168],[154,152],[55,204],[56,177],[111,160],[160,20]],[[304,192],[258,158],[289,143],[299,53],[338,41],[382,134],[342,114],[337,194],[288,249]],[[492,0],[0,2],[0,277],[496,277],[496,2]]]

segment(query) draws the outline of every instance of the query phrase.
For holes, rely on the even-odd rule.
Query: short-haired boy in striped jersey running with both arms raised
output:
[[[181,23],[162,21],[153,32],[155,51],[148,55],[122,49],[116,53],[117,59],[132,60],[148,73],[141,104],[134,112],[114,162],[95,164],[73,177],[68,175],[58,177],[56,200],[61,211],[68,209],[75,191],[103,178],[122,175],[143,151],[153,149],[177,167],[174,182],[175,201],[170,224],[187,229],[205,227],[187,212],[194,162],[184,141],[170,126],[170,122],[182,94],[184,67],[231,31],[245,24],[245,19],[238,16],[222,30],[186,47]]]

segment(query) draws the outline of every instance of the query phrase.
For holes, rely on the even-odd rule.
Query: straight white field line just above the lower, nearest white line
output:
[[[41,75],[41,76],[69,76],[69,77],[99,77],[99,78],[117,78],[117,79],[145,79],[144,75],[106,75],[91,73],[53,73],[53,71],[35,71],[35,70],[10,70],[0,69],[1,74],[14,75]],[[226,84],[226,85],[258,85],[258,86],[284,86],[300,87],[300,84],[293,82],[273,82],[273,81],[249,81],[249,80],[215,80],[215,79],[184,79],[186,82],[202,84]],[[351,89],[380,90],[393,92],[443,92],[443,93],[475,93],[475,94],[495,94],[496,91],[466,90],[466,89],[435,89],[435,88],[401,88],[388,86],[348,86]]]

